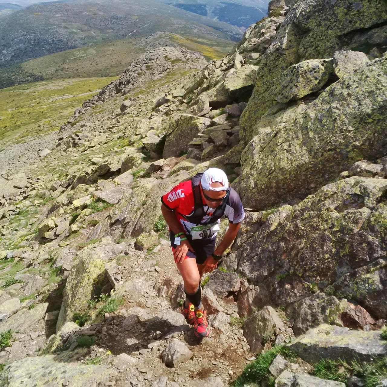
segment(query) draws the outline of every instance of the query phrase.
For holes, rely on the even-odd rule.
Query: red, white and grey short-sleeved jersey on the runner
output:
[[[220,219],[211,223],[211,216],[215,209],[203,203],[205,215],[199,224],[190,223],[183,215],[190,216],[195,210],[194,192],[192,182],[182,182],[173,187],[170,192],[161,197],[161,202],[170,210],[175,212],[175,216],[182,224],[185,233],[192,236],[192,239],[216,238],[219,230]],[[224,216],[228,217],[230,223],[240,223],[245,218],[242,202],[239,195],[230,187],[230,194],[224,210]],[[209,222],[209,224],[207,224]],[[201,224],[205,226],[201,226]]]

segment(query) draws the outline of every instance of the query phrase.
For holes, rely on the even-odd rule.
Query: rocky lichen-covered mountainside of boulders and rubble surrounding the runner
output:
[[[225,58],[164,39],[33,164],[0,152],[0,386],[385,386],[386,23],[272,2]],[[199,339],[160,196],[209,168],[246,216]]]

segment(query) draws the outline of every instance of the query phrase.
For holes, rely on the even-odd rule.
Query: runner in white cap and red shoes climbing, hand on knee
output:
[[[218,168],[198,173],[161,197],[161,211],[170,229],[175,263],[183,277],[186,300],[182,314],[194,325],[197,337],[208,336],[207,312],[201,302],[200,279],[216,269],[223,252],[238,233],[245,212],[239,195],[229,187]],[[229,228],[215,250],[220,218],[227,216]]]

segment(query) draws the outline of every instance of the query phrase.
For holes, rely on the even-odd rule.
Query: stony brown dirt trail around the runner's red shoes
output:
[[[233,375],[241,373],[252,354],[238,324],[215,323],[217,327],[212,326],[211,334],[204,339],[198,339],[193,327],[186,323],[176,329],[147,331],[147,323],[152,316],[168,314],[172,310],[169,293],[157,295],[157,292],[160,294],[160,285],[170,283],[176,286],[181,283],[167,242],[156,253],[145,255],[142,252],[132,252],[127,258],[120,260],[120,266],[125,268],[122,277],[124,283],[138,279],[149,287],[141,295],[138,294],[137,298],[125,295],[125,305],[101,324],[101,331],[105,333],[102,333],[99,347],[110,350],[113,355],[127,353],[138,361],[134,367],[130,366],[115,375],[117,386],[151,386],[160,376],[167,376],[169,381],[176,382],[179,386],[191,386],[192,380],[210,376],[219,377],[228,385],[233,380]],[[171,291],[172,295],[175,295],[175,286]],[[217,301],[226,315],[235,314],[236,304],[232,296]],[[178,311],[179,308],[175,310]],[[214,315],[210,315],[209,320],[213,317]],[[133,324],[130,327],[125,325],[124,320],[127,318],[132,318]],[[194,353],[191,360],[176,368],[166,367],[161,359],[163,349],[172,339],[184,342]]]

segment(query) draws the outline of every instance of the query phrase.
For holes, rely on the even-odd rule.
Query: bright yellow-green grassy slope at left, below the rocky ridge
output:
[[[75,108],[115,77],[57,79],[0,90],[0,150],[57,130]]]

